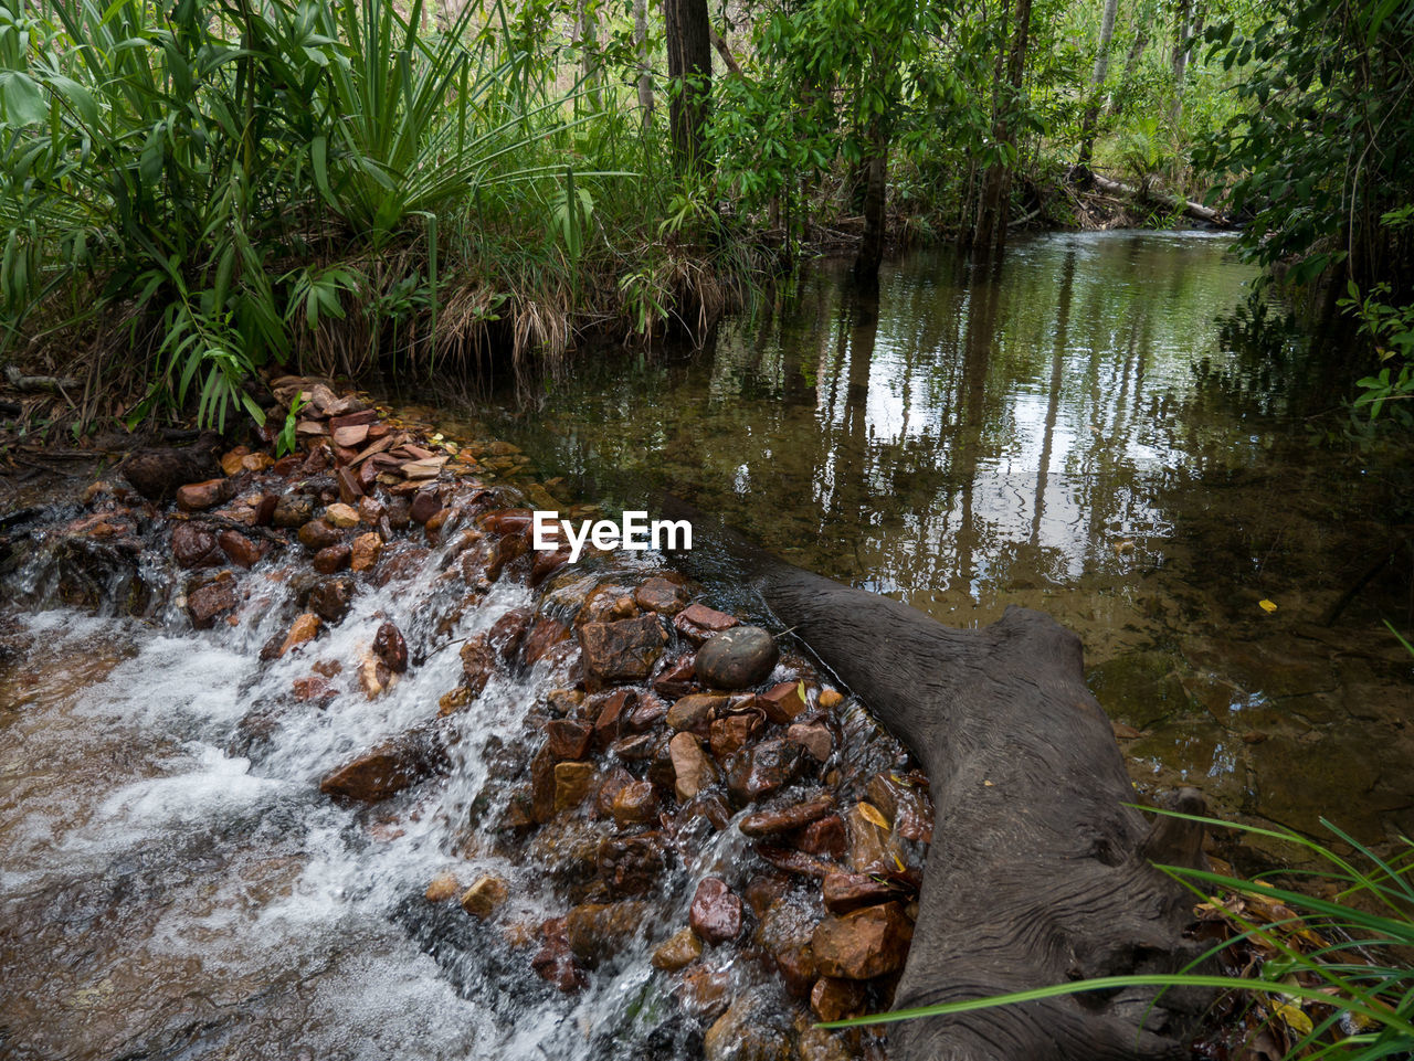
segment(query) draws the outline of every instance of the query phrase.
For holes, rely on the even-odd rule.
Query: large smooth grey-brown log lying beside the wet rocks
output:
[[[665,506],[674,518],[686,506]],[[694,521],[704,524],[701,513]],[[1144,817],[1110,722],[1086,689],[1079,639],[1011,607],[953,630],[906,605],[724,541],[776,616],[922,760],[937,829],[898,1009],[1137,972],[1175,972],[1192,894],[1151,860],[1202,865],[1202,826]],[[721,557],[680,554],[703,576]],[[1176,805],[1200,811],[1185,790]],[[891,1026],[894,1061],[1188,1057],[1202,995],[1079,993]]]

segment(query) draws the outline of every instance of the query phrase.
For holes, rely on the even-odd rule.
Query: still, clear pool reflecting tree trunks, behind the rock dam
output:
[[[1044,609],[1140,730],[1141,788],[1377,841],[1414,829],[1411,667],[1380,623],[1410,626],[1408,558],[1321,620],[1393,548],[1391,486],[1312,437],[1343,390],[1280,315],[1233,326],[1254,274],[1229,246],[1063,233],[1000,273],[916,254],[877,301],[819,268],[697,356],[605,355],[496,427],[584,496],[666,487],[945,623]]]

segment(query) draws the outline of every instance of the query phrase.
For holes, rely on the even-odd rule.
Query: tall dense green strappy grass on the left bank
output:
[[[652,130],[575,106],[499,0],[436,23],[423,0],[0,0],[0,357],[78,353],[90,400],[140,384],[134,418],[223,425],[260,417],[270,363],[427,367],[498,328],[556,352],[575,307],[626,305],[631,249],[663,246],[666,192],[633,175]]]

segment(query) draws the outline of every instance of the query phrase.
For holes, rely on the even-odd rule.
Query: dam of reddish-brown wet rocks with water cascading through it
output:
[[[515,446],[317,380],[271,390],[304,403],[296,454],[267,437],[136,455],[11,521],[13,595],[219,644],[239,680],[204,754],[307,794],[286,828],[318,821],[345,872],[380,879],[362,915],[491,1014],[479,1055],[882,1057],[882,1038],[813,1024],[887,1009],[908,955],[932,804],[905,749],[769,616],[717,610],[653,554],[534,550],[532,509],[592,506],[559,502]],[[10,630],[0,681],[37,629]],[[385,848],[414,856],[375,866]],[[298,894],[321,859],[284,856],[276,894]],[[4,877],[7,913],[45,917],[25,882]],[[0,937],[18,983],[31,928]],[[24,1012],[7,1045],[64,1036]],[[239,1020],[276,1043],[297,1023]],[[132,1047],[115,1029],[66,1055]],[[230,1048],[205,1034],[182,1055]]]

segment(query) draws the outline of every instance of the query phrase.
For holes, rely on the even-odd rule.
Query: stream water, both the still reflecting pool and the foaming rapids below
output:
[[[1379,839],[1414,826],[1410,661],[1379,626],[1407,629],[1408,602],[1381,575],[1319,620],[1387,548],[1387,497],[1309,438],[1321,390],[1299,342],[1267,328],[1253,357],[1263,329],[1219,324],[1249,280],[1225,240],[1155,233],[1018,244],[1000,275],[915,256],[877,300],[826,267],[696,356],[587,362],[495,427],[583,500],[670,487],[946,623],[1042,607],[1082,634],[1092,688],[1133,728],[1137,784],[1188,780],[1223,811],[1302,829],[1325,812]],[[0,1055],[693,1053],[639,1034],[666,1027],[643,949],[566,997],[499,934],[438,924],[421,899],[455,859],[512,882],[509,920],[560,913],[542,866],[462,824],[484,752],[513,743],[563,675],[493,678],[445,783],[354,812],[320,776],[423,719],[455,684],[454,651],[376,704],[291,706],[308,661],[257,661],[288,619],[279,571],[253,572],[264,592],[236,626],[192,633],[175,602],[120,616],[117,583],[98,615],[57,606],[41,554],[0,610]],[[164,564],[154,551],[140,569]],[[356,658],[386,619],[430,643],[440,569],[434,551],[359,596],[320,657]],[[527,600],[498,585],[438,636]],[[259,742],[262,705],[280,725]],[[723,841],[696,870],[734,858]]]

